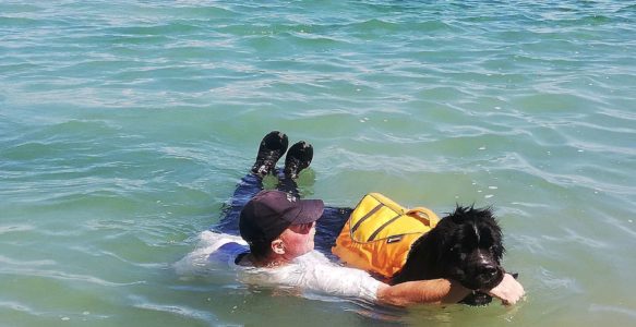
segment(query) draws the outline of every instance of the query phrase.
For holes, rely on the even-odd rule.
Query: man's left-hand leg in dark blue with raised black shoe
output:
[[[241,209],[250,198],[263,190],[263,178],[274,172],[276,162],[287,150],[287,135],[278,131],[271,132],[263,137],[251,171],[237,184],[237,189],[229,204],[223,208],[220,221],[214,226],[214,230],[228,234],[239,234]]]

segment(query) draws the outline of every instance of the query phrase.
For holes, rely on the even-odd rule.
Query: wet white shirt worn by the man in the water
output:
[[[377,289],[382,284],[367,271],[339,266],[315,250],[280,267],[236,265],[236,257],[247,251],[248,244],[239,237],[204,231],[200,246],[179,262],[177,269],[205,269],[207,264],[221,262],[237,269],[241,281],[247,283],[296,288],[309,296],[314,293],[367,301],[377,299]]]

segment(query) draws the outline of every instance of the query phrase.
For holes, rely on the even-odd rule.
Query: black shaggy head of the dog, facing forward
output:
[[[440,220],[435,230],[440,242],[435,247],[444,276],[472,290],[492,289],[502,281],[505,249],[491,208],[457,206]]]

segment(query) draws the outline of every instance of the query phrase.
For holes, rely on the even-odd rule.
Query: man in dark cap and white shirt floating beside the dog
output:
[[[367,271],[336,265],[314,251],[316,221],[335,219],[344,223],[350,211],[325,208],[320,199],[299,198],[293,179],[313,157],[313,148],[304,142],[289,149],[285,169],[279,171],[279,190],[262,191],[263,177],[275,172],[286,149],[287,136],[283,133],[272,132],[263,138],[251,173],[238,185],[218,226],[226,232],[238,230],[248,245],[236,237],[218,234],[211,258],[254,267],[260,282],[381,304],[456,303],[471,292],[447,279],[389,286]],[[514,304],[524,295],[521,284],[508,274],[499,286],[482,291],[504,304]]]

